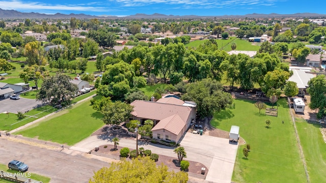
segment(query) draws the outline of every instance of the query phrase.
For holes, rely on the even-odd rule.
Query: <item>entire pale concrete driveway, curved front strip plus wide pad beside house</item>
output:
[[[70,147],[73,150],[89,152],[95,146],[114,144],[113,137],[90,136]],[[186,160],[200,162],[208,168],[206,182],[230,183],[236,159],[238,145],[230,144],[229,139],[187,132],[181,141],[187,153]],[[135,148],[135,138],[121,138],[119,146]],[[139,143],[139,147],[150,149],[152,153],[175,157],[173,147],[160,144]],[[199,181],[201,182],[201,181]]]

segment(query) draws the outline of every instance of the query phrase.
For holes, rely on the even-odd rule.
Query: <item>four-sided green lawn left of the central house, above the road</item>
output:
[[[76,104],[16,134],[73,145],[103,126],[102,114],[90,104],[90,100]]]

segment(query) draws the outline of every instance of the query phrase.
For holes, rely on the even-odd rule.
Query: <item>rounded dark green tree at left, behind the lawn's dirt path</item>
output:
[[[71,78],[65,74],[56,74],[43,80],[41,89],[36,94],[36,100],[50,105],[66,106],[71,103],[78,92],[77,85],[71,83]]]

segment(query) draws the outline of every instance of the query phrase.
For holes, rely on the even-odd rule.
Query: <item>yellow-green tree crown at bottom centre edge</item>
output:
[[[131,161],[125,159],[112,163],[110,168],[103,167],[94,173],[89,183],[98,182],[178,182],[186,183],[188,174],[184,171],[175,173],[169,171],[164,164],[156,166],[150,157],[135,158]]]

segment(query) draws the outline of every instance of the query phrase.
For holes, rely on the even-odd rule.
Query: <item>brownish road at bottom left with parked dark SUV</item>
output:
[[[0,163],[8,165],[11,160],[18,160],[29,165],[28,172],[51,177],[51,183],[80,183],[88,182],[94,171],[110,166],[109,163],[115,161],[70,149],[60,151],[61,148],[58,147],[45,147],[0,137]]]

